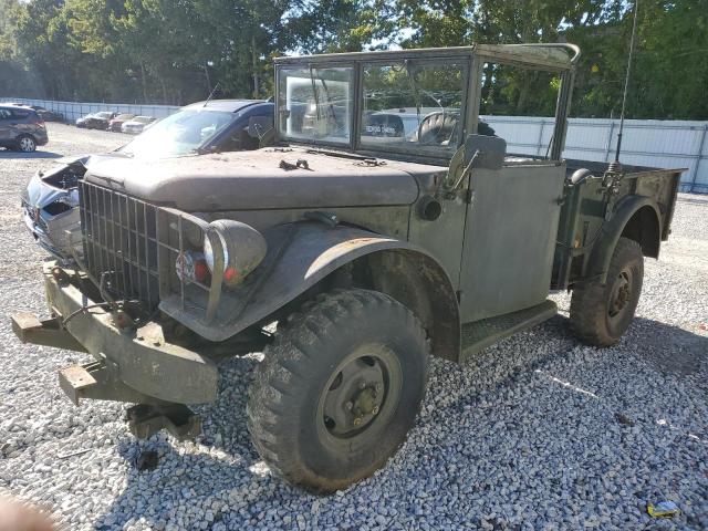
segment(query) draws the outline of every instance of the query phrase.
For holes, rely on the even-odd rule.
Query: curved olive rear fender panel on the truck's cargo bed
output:
[[[659,223],[658,233],[662,233],[662,217],[656,201],[645,196],[625,197],[617,204],[612,218],[602,228],[602,233],[597,238],[590,257],[585,274],[586,279],[598,280],[601,283],[607,280],[610,261],[617,241],[620,241],[627,222],[644,207],[649,207],[654,211]]]

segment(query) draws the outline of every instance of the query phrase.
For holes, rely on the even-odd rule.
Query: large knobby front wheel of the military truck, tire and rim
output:
[[[314,492],[374,473],[403,444],[425,395],[429,346],[403,304],[342,290],[294,314],[256,368],[247,406],[271,469]]]

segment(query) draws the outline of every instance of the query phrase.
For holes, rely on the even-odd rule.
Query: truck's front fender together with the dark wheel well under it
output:
[[[268,254],[239,290],[221,298],[209,324],[180,311],[176,299],[160,309],[210,341],[225,341],[279,311],[342,268],[366,270],[363,288],[389,294],[408,306],[431,339],[433,354],[459,358],[457,298],[442,267],[406,242],[353,227],[296,222],[264,232]],[[351,264],[351,266],[348,266]],[[337,283],[330,283],[336,287]]]

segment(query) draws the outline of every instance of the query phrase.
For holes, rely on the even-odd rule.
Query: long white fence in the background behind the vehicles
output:
[[[0,98],[27,105],[41,105],[62,113],[67,121],[98,111],[133,113],[162,118],[179,107],[169,105],[129,105],[107,103],[54,102],[45,100]],[[509,152],[545,155],[553,118],[485,116]],[[683,191],[708,194],[708,122],[627,119],[624,124],[621,160],[657,168],[688,168],[681,177]],[[611,162],[617,145],[618,119],[571,118],[565,138],[566,158]]]

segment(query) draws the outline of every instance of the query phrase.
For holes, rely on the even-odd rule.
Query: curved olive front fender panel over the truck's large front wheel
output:
[[[431,304],[429,319],[442,321],[436,327],[440,330],[440,336],[449,336],[439,339],[447,341],[444,357],[457,358],[459,313],[455,291],[447,273],[426,251],[358,228],[329,227],[320,222],[283,225],[266,231],[264,236],[268,241],[266,259],[241,288],[223,292],[215,320],[207,323],[202,315],[183,310],[177,295],[163,299],[160,310],[209,341],[225,341],[270,316],[342,266],[365,256],[395,251],[414,264],[413,270],[420,270],[417,274],[421,284],[435,283],[428,291],[442,302],[434,301],[437,303]],[[426,287],[418,288],[423,292]],[[404,304],[409,302],[405,295],[391,294]],[[412,300],[417,299],[413,296]],[[415,313],[416,309],[412,308],[412,311]],[[433,326],[426,323],[425,316],[420,319]]]

